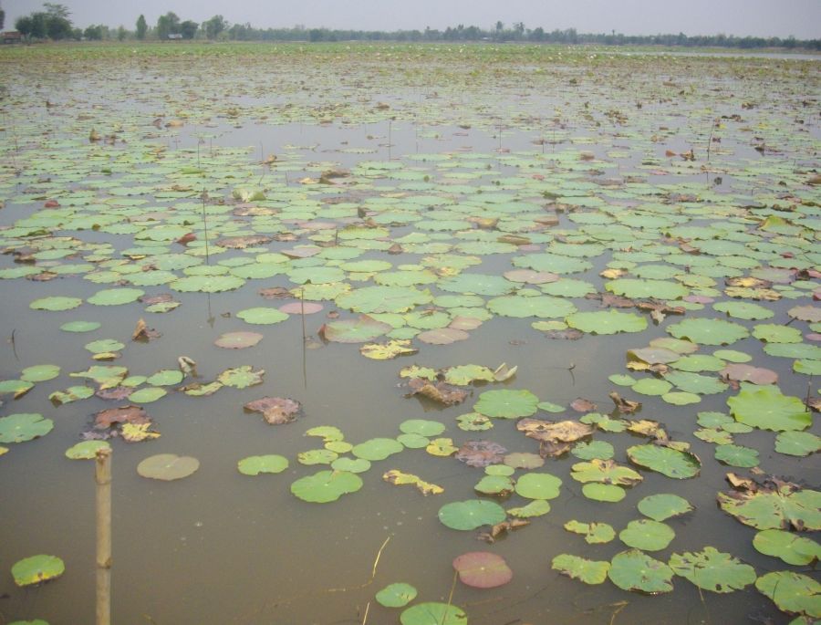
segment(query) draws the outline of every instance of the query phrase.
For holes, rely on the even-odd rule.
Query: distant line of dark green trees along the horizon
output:
[[[45,3],[43,11],[18,17],[15,27],[27,39],[209,39],[221,41],[492,41],[531,42],[547,44],[599,44],[605,46],[670,46],[670,47],[732,47],[742,49],[780,47],[821,50],[821,39],[796,39],[794,36],[732,36],[732,35],[622,35],[610,33],[578,33],[576,28],[547,31],[542,26],[527,28],[523,22],[506,27],[496,22],[492,28],[479,26],[448,26],[444,30],[342,30],[330,28],[256,28],[248,23],[229,24],[223,16],[213,16],[202,24],[182,20],[169,11],[150,26],[145,16],[137,19],[135,29],[124,26],[92,25],[80,29],[72,25],[66,5]],[[0,9],[2,16],[2,9]]]

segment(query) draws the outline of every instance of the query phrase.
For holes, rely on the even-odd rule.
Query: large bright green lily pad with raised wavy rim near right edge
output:
[[[813,423],[804,402],[783,394],[774,384],[743,384],[741,392],[729,398],[727,405],[736,421],[762,430],[804,430]]]

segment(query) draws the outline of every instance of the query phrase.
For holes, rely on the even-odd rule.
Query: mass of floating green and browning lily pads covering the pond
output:
[[[55,325],[55,336],[57,323],[59,332],[99,332],[103,325],[93,318],[110,307],[135,330],[130,337],[92,335],[80,352],[90,362],[68,372],[53,364],[6,364],[0,401],[25,402],[38,395],[38,385],[65,380],[61,390],[47,394],[57,414],[79,401],[106,406],[78,429],[86,440],[71,446],[68,458],[93,458],[120,442],[151,445],[160,432],[146,404],[161,410],[169,393],[207,401],[224,387],[251,392],[264,382],[264,370],[237,363],[202,380],[196,363],[182,356],[176,366],[146,365],[137,374],[116,364],[123,353],[130,355],[133,341],[170,339],[151,328],[153,318],[183,315],[196,294],[214,294],[251,327],[214,341],[226,359],[234,350],[264,349],[301,333],[307,348],[333,350],[340,359],[419,358],[400,368],[402,392],[447,413],[462,411],[462,403],[478,393],[450,425],[408,419],[395,436],[359,443],[346,440],[341,424],[318,425],[306,434],[321,440],[320,448],[248,456],[238,460],[240,473],[283,474],[292,460],[321,466],[289,488],[303,502],[326,504],[359,491],[372,464],[398,461],[400,453],[428,453],[431,470],[417,475],[386,469],[385,483],[414,486],[417,493],[409,497],[449,496],[436,476],[442,463],[461,462],[483,474],[473,493],[454,494],[442,504],[438,518],[451,530],[480,530],[478,537],[492,545],[538,523],[551,511],[549,502],[567,490],[577,489],[598,510],[592,506],[617,505],[629,489],[640,488],[647,472],[697,478],[703,464],[694,448],[711,443],[713,466],[748,471],[727,474],[730,487],[716,494],[718,505],[757,530],[751,538],[757,552],[793,568],[759,577],[742,558],[710,545],[672,552],[666,560],[650,556],[675,538],[667,519],[699,514],[674,493],[642,498],[643,517],[619,532],[604,521],[568,521],[566,531],[587,544],[618,536],[627,549],[609,560],[556,554],[552,567],[586,584],[609,579],[619,589],[650,594],[670,592],[674,576],[716,593],[754,584],[795,622],[821,618],[821,586],[796,569],[813,566],[821,555],[816,540],[805,536],[821,530],[821,494],[801,481],[806,463],[821,450],[813,419],[819,398],[812,386],[821,372],[821,308],[814,304],[821,298],[821,179],[813,147],[817,130],[795,117],[805,85],[817,78],[800,64],[777,63],[783,99],[773,102],[743,87],[749,91],[739,108],[739,100],[721,89],[701,87],[694,74],[714,67],[700,59],[666,59],[650,69],[631,58],[608,65],[568,54],[558,62],[547,56],[556,53],[549,48],[523,48],[512,57],[466,49],[434,54],[430,47],[386,47],[387,56],[372,57],[359,47],[340,61],[346,71],[336,71],[337,77],[357,80],[378,71],[390,79],[390,104],[377,102],[367,89],[344,104],[317,98],[317,89],[303,89],[301,71],[319,68],[322,55],[297,54],[293,47],[269,51],[295,62],[273,76],[270,57],[249,48],[236,54],[281,85],[282,100],[268,98],[259,86],[265,80],[230,81],[237,99],[257,102],[245,105],[193,101],[185,99],[187,89],[130,82],[133,99],[156,109],[134,110],[130,99],[117,97],[108,112],[88,115],[75,115],[75,100],[82,99],[71,81],[66,84],[67,68],[104,87],[129,76],[134,62],[164,76],[175,57],[148,47],[134,59],[98,50],[97,62],[111,69],[111,78],[100,78],[70,55],[56,60],[49,51],[21,52],[32,56],[26,58],[30,65],[14,70],[18,78],[35,70],[43,75],[32,91],[12,87],[14,106],[4,105],[4,131],[13,132],[15,141],[0,148],[0,289],[42,288],[28,307],[44,331]],[[535,70],[524,69],[525,60]],[[510,75],[502,76],[495,64]],[[754,61],[727,64],[739,72],[774,72]],[[465,74],[457,67],[477,71]],[[387,78],[386,68],[400,78]],[[192,92],[200,71],[192,67],[183,78]],[[573,82],[566,71],[578,73]],[[462,74],[476,84],[467,85]],[[614,99],[614,85],[628,78],[637,89]],[[407,86],[414,81],[423,99]],[[503,111],[499,92],[514,98],[525,82],[546,93],[574,95],[567,101],[519,99],[515,114]],[[584,98],[577,99],[582,87]],[[41,89],[57,96],[49,91],[45,112],[33,117]],[[459,89],[476,97],[468,102]],[[635,97],[646,106],[637,106]],[[384,143],[288,145],[269,146],[274,153],[266,156],[257,146],[230,145],[234,127],[304,122],[318,122],[318,130],[323,124],[415,126],[417,141],[438,141],[444,132],[478,141],[494,133],[499,147],[406,146],[386,155]],[[387,141],[390,150],[390,137],[377,141]],[[690,152],[673,147],[681,141]],[[326,160],[317,160],[317,147],[318,158]],[[79,297],[88,283],[98,290]],[[239,291],[255,293],[258,305],[232,307]],[[321,323],[312,323],[319,317]],[[540,398],[512,388],[516,369],[506,365],[423,364],[453,343],[476,340],[485,324],[543,341],[546,359],[553,341],[608,346],[611,335],[632,334],[625,369],[603,371],[600,380],[612,385],[615,407],[606,411],[583,398]],[[11,327],[4,328],[8,335]],[[175,340],[184,353],[185,338]],[[797,396],[807,382],[807,395]],[[712,408],[720,399],[725,412],[693,410],[683,432],[678,424],[674,428],[679,440],[670,437],[665,410],[689,410],[702,401]],[[271,425],[295,427],[302,416],[300,402],[289,397],[248,400],[244,410]],[[652,407],[654,418],[639,418],[641,403]],[[5,405],[0,411],[0,443],[14,445],[11,453],[0,446],[4,462],[14,461],[17,443],[54,427],[40,412]],[[494,432],[513,429],[522,432],[520,448],[508,450],[492,440]],[[774,432],[772,449],[795,462],[797,477],[768,474],[762,457],[768,450],[741,444],[756,432]],[[624,448],[610,442],[628,437]],[[568,458],[573,484],[544,469]],[[162,453],[147,455],[136,470],[174,480],[199,465],[192,456]],[[674,490],[675,482],[670,484]],[[515,563],[509,567],[493,551],[468,551],[452,566],[463,584],[479,589],[509,582],[515,570]],[[22,586],[62,571],[59,558],[36,557],[12,573]],[[375,600],[404,608],[403,625],[466,622],[464,610],[450,602],[406,608],[416,595],[402,582],[380,590]]]

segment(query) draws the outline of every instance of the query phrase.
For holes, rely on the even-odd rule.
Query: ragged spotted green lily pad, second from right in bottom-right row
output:
[[[753,567],[715,547],[704,547],[696,553],[674,553],[670,556],[670,568],[676,575],[711,592],[741,590],[756,578]]]

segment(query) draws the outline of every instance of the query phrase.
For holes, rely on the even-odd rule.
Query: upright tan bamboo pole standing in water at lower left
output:
[[[111,623],[111,450],[96,456],[97,625]]]

